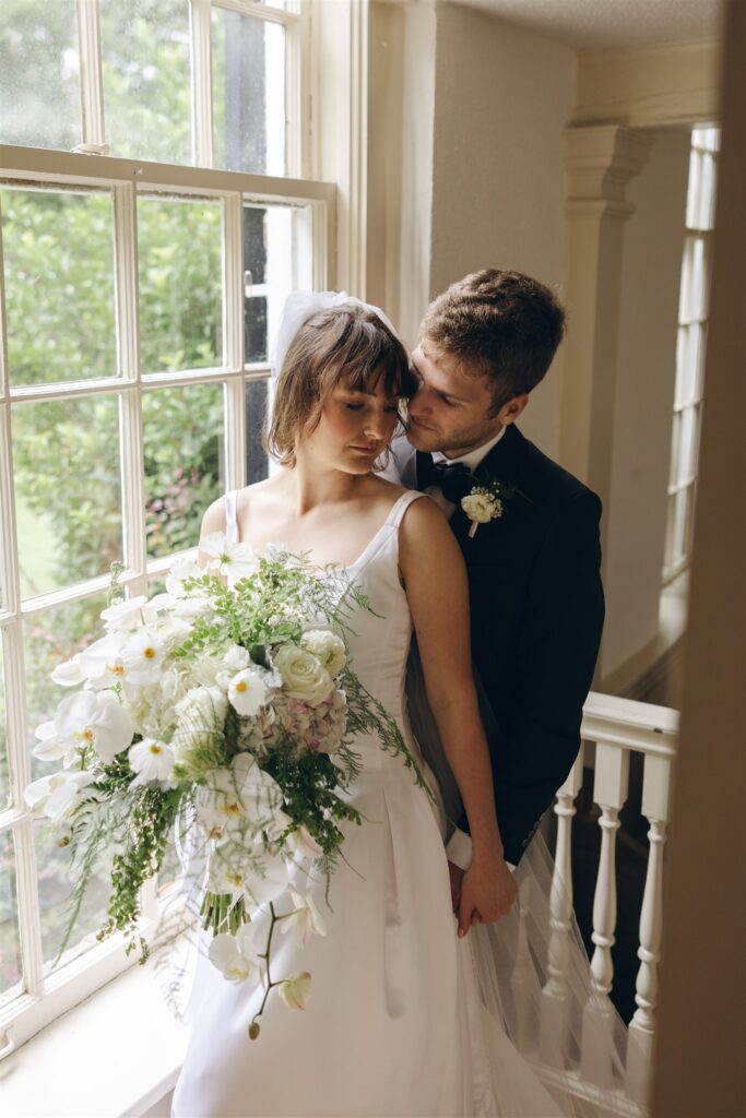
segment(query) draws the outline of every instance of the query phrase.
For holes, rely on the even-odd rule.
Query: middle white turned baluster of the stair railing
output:
[[[601,807],[601,855],[593,899],[593,942],[596,949],[591,960],[595,991],[583,1011],[580,1074],[599,1087],[613,1086],[613,1068],[602,1065],[597,1046],[608,1036],[612,1007],[607,999],[614,979],[612,947],[616,929],[616,832],[618,813],[626,799],[630,755],[625,749],[598,743],[594,799]]]

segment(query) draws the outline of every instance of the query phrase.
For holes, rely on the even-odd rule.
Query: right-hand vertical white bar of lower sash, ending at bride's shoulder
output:
[[[244,201],[228,195],[223,202],[223,353],[228,368],[244,368]],[[225,389],[226,487],[246,484],[246,404],[243,377]]]

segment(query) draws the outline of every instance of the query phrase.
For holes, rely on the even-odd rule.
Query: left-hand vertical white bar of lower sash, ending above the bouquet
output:
[[[116,352],[132,390],[120,396],[122,519],[130,570],[145,575],[145,479],[142,451],[142,388],[138,343],[138,218],[132,183],[114,188]],[[138,590],[135,589],[136,594]]]

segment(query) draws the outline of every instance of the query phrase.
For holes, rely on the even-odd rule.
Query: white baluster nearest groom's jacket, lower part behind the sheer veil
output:
[[[551,874],[551,937],[547,969],[549,977],[541,992],[541,1040],[540,1058],[555,1068],[567,1068],[570,1063],[569,1014],[567,997],[567,936],[573,916],[573,865],[572,837],[575,797],[583,784],[583,746],[570,770],[557,793],[555,815],[557,816],[557,849]]]

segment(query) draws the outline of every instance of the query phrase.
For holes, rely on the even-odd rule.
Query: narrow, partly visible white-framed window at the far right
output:
[[[717,129],[693,129],[679,296],[664,582],[680,575],[691,557],[718,143]]]

